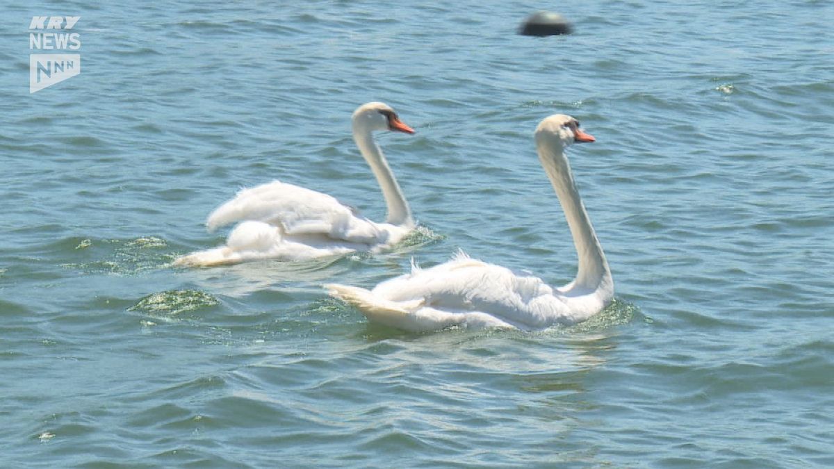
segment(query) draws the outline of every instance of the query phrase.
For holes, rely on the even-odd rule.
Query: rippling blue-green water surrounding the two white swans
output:
[[[290,4],[292,4],[290,6]],[[4,5],[0,466],[834,466],[834,3]],[[29,93],[28,26],[82,73]],[[173,269],[281,179],[424,227],[394,252]],[[540,332],[406,334],[329,300],[463,249],[575,273],[532,132],[571,164],[615,305]]]

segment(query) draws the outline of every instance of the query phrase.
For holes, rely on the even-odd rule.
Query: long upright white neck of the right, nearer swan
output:
[[[538,144],[538,150],[541,164],[565,211],[565,219],[579,257],[579,269],[570,284],[571,290],[579,294],[599,292],[613,295],[614,282],[611,280],[608,261],[605,260],[594,227],[590,224],[563,150],[546,141]]]

